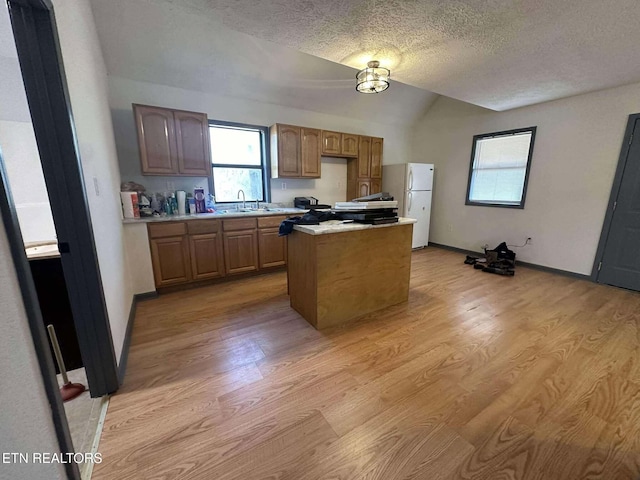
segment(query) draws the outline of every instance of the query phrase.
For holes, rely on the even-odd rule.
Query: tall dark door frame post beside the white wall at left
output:
[[[91,396],[101,397],[118,389],[117,361],[53,4],[7,4],[82,361]]]

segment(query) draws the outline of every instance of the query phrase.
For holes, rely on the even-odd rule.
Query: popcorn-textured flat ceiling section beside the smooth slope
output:
[[[149,0],[494,110],[640,81],[638,0]]]

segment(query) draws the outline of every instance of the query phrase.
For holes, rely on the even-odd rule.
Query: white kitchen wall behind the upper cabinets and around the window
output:
[[[377,121],[328,115],[309,110],[284,107],[247,99],[238,99],[204,92],[184,90],[165,85],[109,77],[111,105],[120,172],[123,181],[136,181],[148,191],[174,189],[193,190],[195,184],[207,187],[205,178],[154,177],[140,173],[140,156],[133,121],[132,103],[157,105],[205,112],[210,119],[270,126],[288,123],[324,128],[384,138],[383,163],[403,163],[409,160],[411,128],[406,124],[384,123],[383,115],[372,112]],[[324,159],[322,177],[316,180],[275,179],[271,181],[272,201],[293,204],[296,196],[315,196],[323,203],[346,199],[346,161]],[[286,190],[282,189],[283,181]]]

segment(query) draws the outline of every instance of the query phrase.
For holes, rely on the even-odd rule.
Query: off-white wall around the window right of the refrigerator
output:
[[[438,99],[415,127],[413,157],[436,167],[430,241],[469,250],[533,245],[518,258],[590,274],[629,114],[640,84],[494,112]],[[465,206],[472,137],[537,126],[524,210]]]

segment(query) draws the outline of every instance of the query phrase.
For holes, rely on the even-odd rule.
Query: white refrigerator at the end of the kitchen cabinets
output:
[[[433,164],[403,163],[382,167],[382,191],[398,201],[398,215],[415,218],[412,248],[426,247],[429,243],[431,221],[431,191]]]

